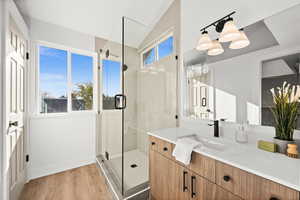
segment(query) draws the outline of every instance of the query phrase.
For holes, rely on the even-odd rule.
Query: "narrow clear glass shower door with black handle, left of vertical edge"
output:
[[[121,45],[119,45],[121,47]],[[119,47],[119,48],[120,48]],[[97,159],[102,161],[105,173],[113,183],[114,190],[121,195],[122,190],[122,110],[116,109],[115,97],[122,94],[122,69],[120,58],[99,56],[101,66],[102,110],[101,134],[98,137]]]

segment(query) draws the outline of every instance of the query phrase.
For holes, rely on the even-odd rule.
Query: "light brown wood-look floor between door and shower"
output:
[[[21,200],[112,200],[95,164],[30,181]]]

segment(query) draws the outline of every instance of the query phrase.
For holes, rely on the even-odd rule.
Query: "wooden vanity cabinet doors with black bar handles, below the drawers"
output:
[[[157,151],[149,155],[152,200],[240,200]]]

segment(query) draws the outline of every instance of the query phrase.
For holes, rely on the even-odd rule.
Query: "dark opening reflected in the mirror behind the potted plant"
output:
[[[274,126],[275,121],[271,111],[273,97],[270,89],[282,87],[284,82],[299,85],[300,53],[278,57],[262,63],[261,80],[261,124]],[[300,127],[298,121],[297,128]]]

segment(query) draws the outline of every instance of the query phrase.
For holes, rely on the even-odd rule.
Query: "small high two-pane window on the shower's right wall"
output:
[[[155,43],[152,48],[142,53],[143,66],[149,66],[174,52],[174,37],[168,36]]]

